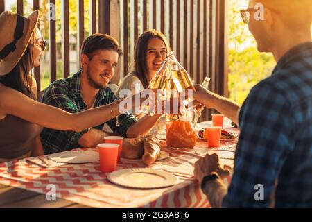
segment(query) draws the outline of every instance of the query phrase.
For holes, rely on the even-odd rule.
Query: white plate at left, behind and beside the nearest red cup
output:
[[[48,158],[55,162],[66,162],[71,164],[82,164],[100,160],[98,153],[95,151],[65,151],[62,153],[53,153],[49,155]]]

